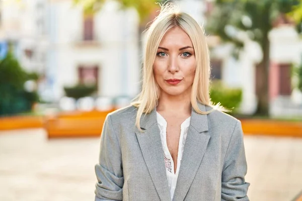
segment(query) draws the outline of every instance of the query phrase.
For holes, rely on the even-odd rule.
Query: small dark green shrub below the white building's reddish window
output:
[[[64,91],[67,97],[79,99],[81,97],[92,95],[95,91],[97,91],[97,86],[78,84],[73,87],[64,87]]]

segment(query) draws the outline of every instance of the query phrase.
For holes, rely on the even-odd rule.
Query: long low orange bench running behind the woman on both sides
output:
[[[97,137],[101,135],[107,114],[112,111],[62,112],[44,119],[33,116],[2,117],[0,131],[44,127],[49,138]],[[245,135],[302,137],[302,122],[259,119],[242,119],[241,122]]]

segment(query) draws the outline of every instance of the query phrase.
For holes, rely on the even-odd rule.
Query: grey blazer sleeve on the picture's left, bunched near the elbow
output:
[[[107,115],[103,125],[99,163],[95,165],[95,173],[98,180],[95,201],[123,199],[122,155],[110,115]]]

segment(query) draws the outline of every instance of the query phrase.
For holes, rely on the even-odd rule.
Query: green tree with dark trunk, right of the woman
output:
[[[243,42],[234,33],[245,31],[258,42],[263,52],[259,63],[260,90],[257,114],[268,115],[268,69],[270,41],[268,34],[277,19],[287,22],[295,21],[301,32],[302,0],[216,0],[214,9],[207,22],[209,34],[218,35],[222,40],[232,42],[237,50]]]

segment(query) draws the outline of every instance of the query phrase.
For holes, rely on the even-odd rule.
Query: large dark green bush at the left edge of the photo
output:
[[[36,91],[26,91],[24,83],[35,77],[38,77],[36,73],[22,69],[11,52],[0,61],[0,116],[31,111],[39,97]]]

